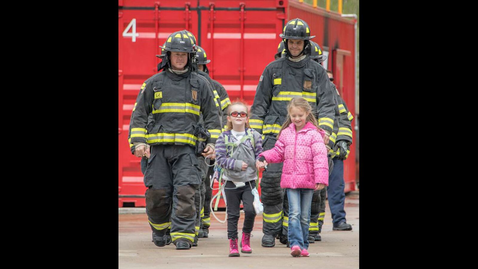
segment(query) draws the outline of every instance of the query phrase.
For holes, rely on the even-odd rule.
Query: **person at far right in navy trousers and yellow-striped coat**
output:
[[[334,170],[329,177],[329,186],[327,188],[327,197],[329,201],[330,213],[332,214],[333,230],[350,231],[352,225],[348,224],[345,219],[345,182],[344,182],[344,160],[347,159],[350,153],[350,145],[352,144],[352,113],[348,111],[345,101],[340,98],[340,94],[332,83],[334,80],[331,71],[327,70],[327,75],[332,84],[332,88],[337,92],[341,104],[339,130],[337,133],[337,150],[333,152]],[[325,212],[325,205],[324,205]]]

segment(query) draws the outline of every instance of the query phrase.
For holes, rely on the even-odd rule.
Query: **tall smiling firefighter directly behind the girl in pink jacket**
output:
[[[250,127],[263,135],[264,150],[271,149],[286,119],[287,103],[301,96],[309,101],[318,116],[319,126],[326,132],[324,142],[327,145],[334,126],[335,101],[326,70],[308,56],[309,40],[314,36],[310,35],[308,24],[298,18],[287,22],[279,36],[283,39],[286,56],[271,62],[262,72],[251,107]],[[281,174],[282,164],[269,164],[262,173],[262,247],[274,247],[275,236],[282,235],[282,223],[288,225],[285,214],[282,219]]]

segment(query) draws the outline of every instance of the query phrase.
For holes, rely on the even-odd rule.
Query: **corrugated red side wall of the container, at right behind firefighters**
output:
[[[354,22],[340,17],[337,12],[313,8],[306,3],[290,0],[287,20],[303,19],[309,24],[312,39],[329,52],[328,69],[334,74],[334,83],[349,111],[355,116],[355,33]],[[347,56],[343,53],[349,52]],[[355,120],[352,121],[353,145],[355,145]],[[355,146],[344,161],[345,191],[355,190]]]

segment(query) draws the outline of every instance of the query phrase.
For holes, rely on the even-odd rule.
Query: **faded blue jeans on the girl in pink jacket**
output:
[[[309,248],[310,205],[313,189],[287,189],[289,200],[289,229],[287,232],[290,246]]]

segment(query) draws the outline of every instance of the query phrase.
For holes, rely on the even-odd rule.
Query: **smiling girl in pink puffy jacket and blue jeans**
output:
[[[314,190],[328,186],[327,149],[324,131],[318,127],[312,108],[304,98],[287,105],[287,120],[275,146],[261,153],[260,161],[281,163],[281,187],[289,199],[288,240],[293,257],[309,257],[310,206]]]

